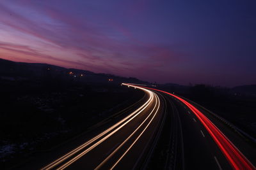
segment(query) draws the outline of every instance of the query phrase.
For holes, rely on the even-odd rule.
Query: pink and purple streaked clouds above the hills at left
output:
[[[138,4],[138,9],[145,8],[143,4]],[[84,17],[72,9],[67,12],[54,5],[17,5],[19,8],[13,10],[13,7],[0,4],[1,24],[20,32],[21,42],[22,38],[29,41],[26,45],[15,41],[0,43],[2,53],[3,50],[10,52],[15,59],[20,57],[147,80],[150,77],[154,80],[156,75],[161,77],[161,69],[183,60],[184,54],[175,52],[172,46],[140,41],[115,20],[107,25],[95,22],[93,18],[99,19],[100,14]],[[27,15],[24,10],[33,15]]]

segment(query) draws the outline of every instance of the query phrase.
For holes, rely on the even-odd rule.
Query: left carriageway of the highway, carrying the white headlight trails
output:
[[[143,89],[147,101],[127,117],[42,169],[132,169],[141,166],[163,124],[161,99]]]

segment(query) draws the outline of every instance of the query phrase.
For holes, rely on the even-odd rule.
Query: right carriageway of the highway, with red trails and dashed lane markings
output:
[[[223,129],[218,128],[223,127],[220,122],[214,121],[214,124],[205,116],[206,113],[203,113],[182,97],[163,90],[143,88],[160,92],[172,105],[172,115],[176,117],[174,122],[180,124],[178,126],[180,128],[179,132],[182,133],[180,137],[182,138],[180,140],[181,144],[179,143],[182,150],[174,150],[174,152],[178,152],[176,154],[182,152],[182,169],[256,169],[250,162],[250,160],[254,161],[255,164],[255,145],[250,146],[237,138],[236,134],[228,132],[228,129],[224,127],[224,131],[230,136],[229,139],[221,131]],[[237,141],[234,142],[241,148],[237,148],[231,139],[236,139]],[[244,153],[241,152],[241,149]],[[173,160],[168,161],[173,162]],[[170,163],[167,166],[168,169],[177,169]]]

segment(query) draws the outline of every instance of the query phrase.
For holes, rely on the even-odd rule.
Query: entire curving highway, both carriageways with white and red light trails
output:
[[[252,157],[182,97],[122,85],[143,90],[145,101],[41,169],[255,169]]]

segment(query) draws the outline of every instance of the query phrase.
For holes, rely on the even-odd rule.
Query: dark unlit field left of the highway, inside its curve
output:
[[[49,150],[143,97],[119,84],[0,80],[1,164]]]

